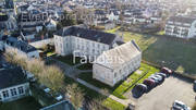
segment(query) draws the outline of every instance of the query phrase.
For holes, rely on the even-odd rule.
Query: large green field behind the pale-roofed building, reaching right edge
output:
[[[115,30],[109,30],[115,33]],[[196,75],[196,44],[173,37],[121,32],[125,41],[135,40],[143,50],[143,60]]]

